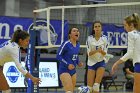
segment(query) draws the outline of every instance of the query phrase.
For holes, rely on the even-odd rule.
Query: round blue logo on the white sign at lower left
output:
[[[6,77],[12,82],[15,83],[18,80],[19,72],[15,66],[10,66],[6,73]]]

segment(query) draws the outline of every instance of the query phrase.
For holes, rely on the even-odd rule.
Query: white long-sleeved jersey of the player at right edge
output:
[[[121,60],[126,61],[129,58],[133,59],[133,65],[137,62],[140,63],[140,32],[136,30],[128,32],[127,53]]]

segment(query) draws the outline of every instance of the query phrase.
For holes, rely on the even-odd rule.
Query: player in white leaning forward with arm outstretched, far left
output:
[[[18,70],[27,78],[30,78],[34,84],[40,83],[39,78],[33,77],[21,65],[20,47],[26,48],[29,44],[29,39],[30,36],[26,31],[17,30],[14,32],[11,40],[6,41],[0,45],[0,90],[2,90],[2,93],[11,93],[11,90],[3,73],[4,64],[10,61],[15,62]]]

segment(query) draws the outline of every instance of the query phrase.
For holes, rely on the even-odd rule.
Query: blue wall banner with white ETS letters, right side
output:
[[[87,23],[86,26],[89,28],[89,31],[92,31],[92,23]],[[114,24],[102,24],[102,26],[103,34],[108,37],[110,46],[127,46],[127,32],[123,26]]]

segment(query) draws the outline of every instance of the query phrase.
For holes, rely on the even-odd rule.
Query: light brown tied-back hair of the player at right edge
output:
[[[140,16],[137,13],[127,16],[124,20],[129,26],[133,24],[137,30],[140,30]]]

